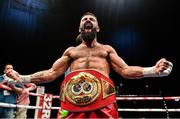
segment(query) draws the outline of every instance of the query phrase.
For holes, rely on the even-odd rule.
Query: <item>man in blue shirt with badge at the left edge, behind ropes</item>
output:
[[[8,63],[4,67],[4,74],[0,76],[0,102],[15,104],[17,94],[22,93],[22,87],[9,83],[10,80],[13,80],[6,76],[9,70],[13,70],[13,65]],[[14,118],[14,108],[0,107],[0,118]]]

